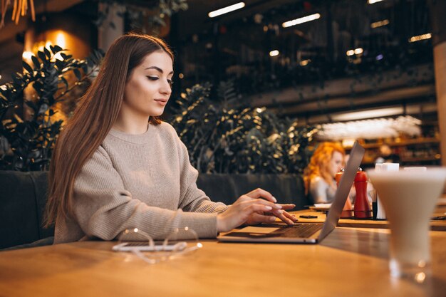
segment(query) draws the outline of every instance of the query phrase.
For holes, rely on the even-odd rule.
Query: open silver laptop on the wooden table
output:
[[[331,203],[325,223],[304,223],[288,226],[285,223],[260,224],[234,229],[217,236],[222,242],[264,242],[290,244],[318,244],[335,229],[341,212],[346,204],[353,180],[364,156],[364,148],[355,142],[350,158],[339,182],[335,197]]]

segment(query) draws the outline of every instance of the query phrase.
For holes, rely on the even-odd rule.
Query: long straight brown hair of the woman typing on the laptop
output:
[[[73,186],[85,162],[108,135],[124,98],[125,84],[133,69],[155,51],[173,53],[159,38],[130,33],[120,36],[110,46],[98,77],[81,98],[73,117],[68,120],[56,142],[50,164],[45,226],[59,216],[72,215]],[[160,123],[150,117],[152,125]]]

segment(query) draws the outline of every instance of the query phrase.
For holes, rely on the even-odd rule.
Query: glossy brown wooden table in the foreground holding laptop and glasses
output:
[[[207,240],[155,265],[107,241],[0,251],[0,296],[445,296],[446,232],[430,231],[421,285],[389,276],[388,232],[336,228],[318,245]]]

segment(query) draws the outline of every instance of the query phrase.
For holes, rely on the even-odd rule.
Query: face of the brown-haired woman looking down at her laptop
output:
[[[155,51],[142,59],[125,85],[121,111],[131,117],[162,115],[172,93],[172,58]]]

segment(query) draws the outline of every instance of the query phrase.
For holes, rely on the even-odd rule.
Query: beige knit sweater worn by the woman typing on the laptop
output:
[[[55,243],[115,239],[138,228],[154,239],[189,226],[200,238],[217,235],[217,213],[197,188],[198,172],[167,123],[130,135],[111,130],[74,184],[74,217],[56,220]]]

